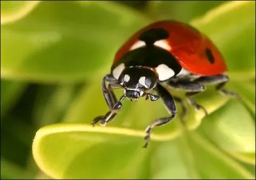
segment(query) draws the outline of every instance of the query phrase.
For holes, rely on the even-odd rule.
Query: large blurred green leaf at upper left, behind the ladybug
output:
[[[1,25],[1,77],[86,80],[111,63],[125,37],[146,22],[115,2],[42,1],[23,19]]]

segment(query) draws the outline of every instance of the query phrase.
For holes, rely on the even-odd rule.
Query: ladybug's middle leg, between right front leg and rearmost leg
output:
[[[207,110],[202,105],[199,105],[198,103],[195,102],[195,100],[193,100],[193,98],[191,98],[191,96],[205,90],[205,87],[203,84],[189,81],[189,80],[179,80],[177,82],[170,81],[168,82],[168,85],[170,87],[173,87],[174,89],[181,89],[186,91],[187,92],[186,96],[188,97],[189,103],[191,103],[191,105],[193,105],[193,107],[195,107],[196,110],[202,109],[204,110],[205,115],[208,114]]]

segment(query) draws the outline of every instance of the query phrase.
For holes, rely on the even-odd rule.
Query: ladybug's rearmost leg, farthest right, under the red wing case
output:
[[[229,78],[227,75],[215,75],[211,77],[200,77],[195,80],[195,82],[198,82],[200,84],[217,84],[216,89],[220,91],[223,94],[226,94],[228,96],[236,96],[237,94],[231,91],[227,91],[226,89],[223,89],[225,84],[227,84]]]

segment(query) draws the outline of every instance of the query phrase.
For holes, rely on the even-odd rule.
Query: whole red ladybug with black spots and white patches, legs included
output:
[[[113,120],[125,98],[131,101],[143,96],[151,101],[161,98],[170,116],[156,119],[147,126],[143,146],[147,147],[152,129],[169,123],[176,116],[175,101],[184,109],[182,100],[172,96],[164,86],[185,91],[191,105],[207,114],[191,96],[204,91],[207,84],[216,84],[216,90],[234,95],[223,89],[229,79],[226,73],[227,66],[220,50],[200,31],[175,20],[154,22],[133,34],[116,52],[111,72],[102,79],[102,92],[109,112],[95,117],[92,125],[100,122],[104,126]],[[113,93],[116,88],[124,89],[118,100]]]

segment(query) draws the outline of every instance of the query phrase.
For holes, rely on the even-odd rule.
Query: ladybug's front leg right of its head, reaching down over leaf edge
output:
[[[176,108],[173,96],[166,89],[164,89],[164,87],[161,86],[160,84],[157,84],[157,86],[155,87],[155,90],[157,91],[159,96],[164,101],[164,105],[168,109],[171,116],[170,117],[162,117],[160,119],[157,119],[157,120],[153,121],[149,126],[147,126],[147,128],[145,130],[147,135],[144,137],[144,139],[146,140],[146,143],[143,147],[148,146],[149,141],[150,141],[150,133],[155,126],[161,126],[163,124],[169,123],[177,114],[177,108]]]

